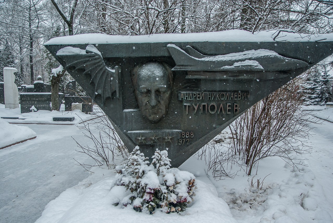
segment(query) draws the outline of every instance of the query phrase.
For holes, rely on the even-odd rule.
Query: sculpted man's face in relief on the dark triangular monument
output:
[[[141,113],[159,122],[167,113],[173,83],[171,69],[160,62],[148,62],[133,70],[132,81]]]

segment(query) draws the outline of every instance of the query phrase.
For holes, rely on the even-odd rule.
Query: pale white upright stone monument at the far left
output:
[[[3,68],[3,82],[5,93],[5,108],[18,108],[19,106],[19,91],[17,89],[15,81],[16,68],[5,67]]]

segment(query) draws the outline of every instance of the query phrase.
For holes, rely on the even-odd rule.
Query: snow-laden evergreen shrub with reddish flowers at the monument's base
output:
[[[158,208],[165,213],[184,211],[194,196],[194,175],[170,168],[166,150],[156,151],[152,158],[152,164],[148,165],[148,158],[136,147],[127,163],[116,167],[119,175],[114,186],[125,186],[131,191],[120,204],[150,214]]]

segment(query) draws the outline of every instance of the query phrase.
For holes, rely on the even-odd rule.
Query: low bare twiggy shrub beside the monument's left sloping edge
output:
[[[116,133],[106,114],[99,113],[99,117],[95,119],[95,122],[84,123],[79,128],[84,130],[85,136],[94,143],[93,147],[88,145],[83,146],[74,139],[81,149],[77,151],[87,154],[95,162],[94,165],[88,165],[77,161],[87,171],[93,166],[102,166],[104,164],[110,169],[110,162],[114,162],[117,156],[121,156],[122,158],[128,156],[127,148]]]

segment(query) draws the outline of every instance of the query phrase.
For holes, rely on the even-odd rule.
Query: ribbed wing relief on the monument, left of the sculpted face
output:
[[[76,47],[64,47],[57,52],[70,73],[78,72],[90,75],[90,84],[95,86],[95,92],[90,96],[96,100],[99,96],[104,105],[107,98],[112,99],[112,93],[116,92],[119,98],[120,68],[107,67],[101,52],[93,45],[88,45],[85,50]],[[72,75],[73,76],[73,75]]]

